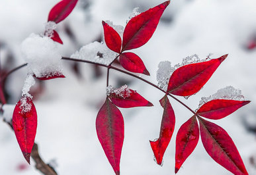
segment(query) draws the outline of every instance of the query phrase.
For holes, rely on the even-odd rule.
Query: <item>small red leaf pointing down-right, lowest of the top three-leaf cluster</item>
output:
[[[140,59],[140,57],[138,57],[138,55],[135,53],[122,53],[120,55],[120,64],[123,66],[123,68],[129,70],[130,72],[142,73],[146,74],[147,76],[150,75],[142,59]]]

